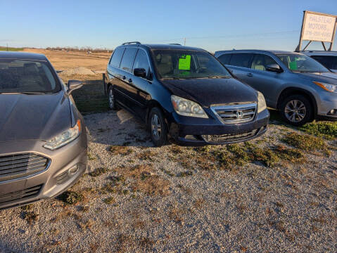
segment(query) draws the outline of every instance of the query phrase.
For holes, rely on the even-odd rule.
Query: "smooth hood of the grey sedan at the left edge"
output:
[[[54,94],[0,94],[0,142],[47,141],[71,126],[69,98]]]

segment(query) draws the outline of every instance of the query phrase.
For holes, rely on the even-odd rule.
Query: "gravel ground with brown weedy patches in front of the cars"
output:
[[[337,252],[334,141],[329,157],[219,164],[203,158],[226,146],[153,148],[125,110],[85,120],[90,173],[70,189],[78,202],[0,211],[0,252]],[[288,131],[271,124],[248,144],[285,145]]]

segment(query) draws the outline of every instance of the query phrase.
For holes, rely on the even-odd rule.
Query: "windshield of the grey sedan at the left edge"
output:
[[[61,90],[44,62],[0,59],[0,93],[55,93]]]

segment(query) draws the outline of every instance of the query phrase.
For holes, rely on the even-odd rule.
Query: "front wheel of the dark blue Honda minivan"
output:
[[[163,112],[159,108],[152,108],[148,115],[148,128],[155,146],[160,147],[167,143],[167,124]]]

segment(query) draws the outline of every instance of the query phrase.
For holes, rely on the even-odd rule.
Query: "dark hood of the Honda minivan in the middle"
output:
[[[257,102],[257,92],[234,78],[161,81],[174,95],[209,107],[225,103]]]

